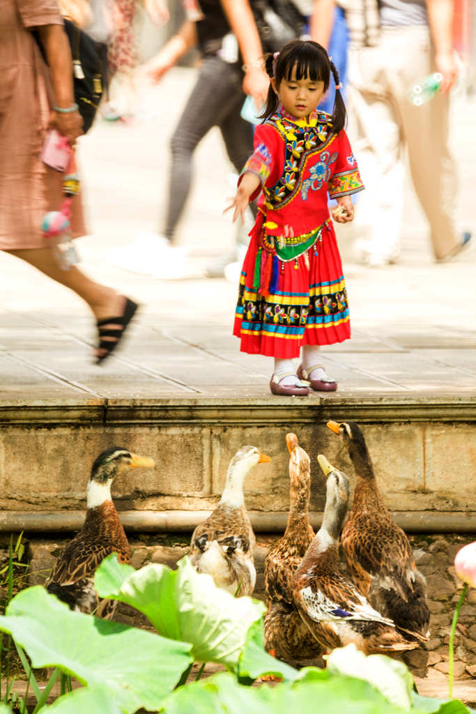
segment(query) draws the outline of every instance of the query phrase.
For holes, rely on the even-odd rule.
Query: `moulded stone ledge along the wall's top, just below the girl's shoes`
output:
[[[316,397],[289,399],[101,399],[0,400],[0,424],[51,423],[136,424],[268,424],[335,421],[476,422],[476,396],[455,398]]]

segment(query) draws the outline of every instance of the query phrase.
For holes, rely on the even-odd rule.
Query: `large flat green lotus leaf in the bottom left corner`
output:
[[[57,666],[106,690],[128,712],[157,709],[192,662],[190,645],[71,612],[39,585],[11,600],[0,629],[26,650],[34,668]]]

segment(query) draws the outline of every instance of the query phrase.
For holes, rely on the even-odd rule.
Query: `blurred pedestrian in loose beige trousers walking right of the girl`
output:
[[[370,266],[400,256],[405,150],[435,260],[453,258],[472,238],[455,224],[457,176],[448,146],[448,93],[457,77],[453,13],[453,0],[348,0],[351,136],[368,188],[355,221],[366,237],[356,248]],[[442,75],[440,91],[415,106],[410,89],[434,72]]]

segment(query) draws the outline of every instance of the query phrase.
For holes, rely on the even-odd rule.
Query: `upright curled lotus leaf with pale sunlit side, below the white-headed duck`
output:
[[[197,573],[188,558],[179,561],[177,570],[150,563],[130,575],[113,558],[103,560],[96,571],[94,584],[101,597],[140,610],[163,637],[191,643],[197,662],[236,668],[248,628],[263,615],[263,603],[233,598],[210,575]]]

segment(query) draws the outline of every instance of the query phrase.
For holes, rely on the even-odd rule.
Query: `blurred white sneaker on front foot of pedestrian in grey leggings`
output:
[[[174,280],[188,275],[186,248],[171,246],[159,233],[138,233],[136,238],[123,248],[113,248],[111,262],[131,273],[154,278]]]

